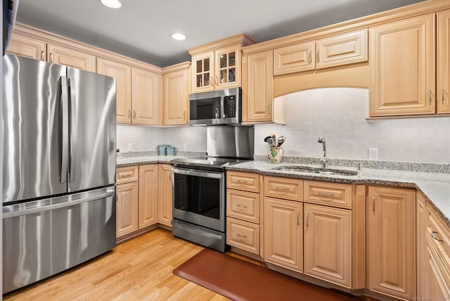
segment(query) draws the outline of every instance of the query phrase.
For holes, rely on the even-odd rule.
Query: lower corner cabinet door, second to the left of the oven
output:
[[[139,229],[158,222],[158,164],[139,166]]]

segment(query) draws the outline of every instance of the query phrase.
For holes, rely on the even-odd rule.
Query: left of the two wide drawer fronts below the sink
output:
[[[264,177],[264,195],[287,200],[303,200],[303,181],[297,179]]]

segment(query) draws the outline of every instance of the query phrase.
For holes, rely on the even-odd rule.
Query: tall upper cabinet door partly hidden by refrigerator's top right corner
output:
[[[116,122],[131,123],[131,67],[106,58],[97,59],[97,72],[115,77]]]

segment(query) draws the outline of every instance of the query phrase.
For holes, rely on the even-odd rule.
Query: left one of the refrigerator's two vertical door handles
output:
[[[59,169],[59,181],[64,183],[67,181],[68,172],[68,85],[67,77],[60,77],[58,84],[61,91],[60,96],[60,129],[61,129],[61,145],[60,145],[60,169]]]

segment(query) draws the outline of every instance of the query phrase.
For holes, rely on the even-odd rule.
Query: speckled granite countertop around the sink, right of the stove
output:
[[[311,174],[305,172],[290,172],[274,170],[274,167],[286,165],[299,165],[292,163],[269,163],[263,161],[244,162],[226,167],[227,170],[240,172],[257,172],[267,176],[289,177],[294,179],[330,181],[346,184],[367,184],[396,186],[403,188],[416,188],[427,198],[427,202],[435,207],[442,219],[450,227],[450,174],[444,172],[411,172],[395,169],[375,169],[354,167],[333,167],[330,169],[345,169],[357,171],[356,176],[341,176],[330,174]],[[320,167],[319,165],[305,165],[309,167]]]

